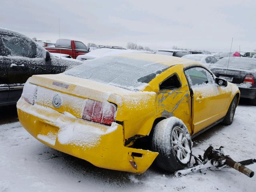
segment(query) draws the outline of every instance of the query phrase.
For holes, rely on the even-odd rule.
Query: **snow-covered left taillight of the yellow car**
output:
[[[26,82],[23,88],[22,97],[24,100],[32,105],[35,104],[37,86]]]

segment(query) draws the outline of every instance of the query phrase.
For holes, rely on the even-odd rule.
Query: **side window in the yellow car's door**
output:
[[[189,68],[185,71],[185,75],[192,87],[214,83],[212,74],[202,67]]]

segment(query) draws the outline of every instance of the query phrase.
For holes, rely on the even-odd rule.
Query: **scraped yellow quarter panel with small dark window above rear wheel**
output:
[[[176,65],[158,77],[159,93],[156,95],[158,117],[175,116],[182,119],[191,133],[190,91],[183,66]]]

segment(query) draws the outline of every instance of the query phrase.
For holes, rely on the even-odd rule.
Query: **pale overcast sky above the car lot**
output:
[[[30,38],[157,50],[256,49],[255,0],[1,0],[0,27]]]

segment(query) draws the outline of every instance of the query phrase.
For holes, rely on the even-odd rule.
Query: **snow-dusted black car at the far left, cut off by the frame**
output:
[[[0,106],[16,104],[30,76],[58,74],[80,64],[51,56],[32,39],[0,28]]]

